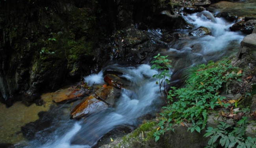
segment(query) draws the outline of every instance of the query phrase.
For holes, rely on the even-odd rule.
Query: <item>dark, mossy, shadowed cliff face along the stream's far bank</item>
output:
[[[1,0],[0,100],[32,102],[106,61],[140,63],[165,46],[149,28],[186,28],[181,16],[160,13],[170,11],[168,2]]]

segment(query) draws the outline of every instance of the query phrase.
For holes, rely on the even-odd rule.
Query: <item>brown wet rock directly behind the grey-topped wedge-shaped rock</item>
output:
[[[114,106],[116,98],[118,98],[120,94],[120,90],[112,87],[107,86],[104,88],[101,88],[95,92],[94,97],[100,100],[103,100],[110,106]]]

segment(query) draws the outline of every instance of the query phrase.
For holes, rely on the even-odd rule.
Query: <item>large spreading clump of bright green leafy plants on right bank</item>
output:
[[[188,69],[185,72],[186,87],[171,87],[169,91],[167,99],[173,104],[163,107],[161,121],[158,123],[160,129],[154,133],[155,140],[158,141],[159,136],[170,130],[174,123],[191,123],[188,130],[200,133],[206,126],[207,110],[231,105],[222,102],[226,97],[219,95],[219,89],[225,82],[239,80],[237,77],[241,74],[232,71],[237,71],[237,68],[228,64],[228,61],[209,62],[208,65]],[[166,124],[168,126],[164,126]]]

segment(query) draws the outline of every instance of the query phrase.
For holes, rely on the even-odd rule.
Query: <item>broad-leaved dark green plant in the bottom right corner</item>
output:
[[[236,127],[231,127],[229,124],[219,122],[217,128],[208,127],[204,137],[211,137],[208,145],[205,148],[256,148],[256,138],[245,137],[247,117],[243,117],[237,122]]]

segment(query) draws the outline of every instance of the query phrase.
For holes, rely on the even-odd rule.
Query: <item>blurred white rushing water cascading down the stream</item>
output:
[[[169,55],[169,58],[173,60],[173,82],[180,78],[180,73],[185,68],[230,55],[238,49],[244,37],[240,32],[229,31],[228,28],[232,23],[223,18],[215,18],[208,11],[187,15],[184,18],[195,28],[208,27],[212,35],[189,37],[187,30],[176,31],[185,37],[182,40],[170,42],[170,48],[161,52],[161,54]],[[152,58],[148,58],[146,62],[150,60]],[[130,86],[122,89],[116,107],[95,113],[80,121],[69,119],[70,110],[80,101],[75,102],[74,105],[64,104],[51,108],[42,115],[42,121],[37,123],[43,126],[42,129],[31,135],[31,141],[18,145],[26,145],[26,148],[90,148],[114,128],[122,125],[137,127],[141,123],[141,117],[154,116],[163,100],[160,97],[159,87],[152,78],[152,75],[157,72],[150,69],[148,63],[125,67],[121,64],[114,64],[105,69],[122,71],[125,73],[122,77],[131,82]],[[93,82],[103,84],[102,71],[85,77],[85,81],[89,84]],[[48,126],[45,128],[45,124],[41,123],[43,121],[48,121]]]

